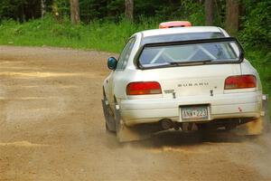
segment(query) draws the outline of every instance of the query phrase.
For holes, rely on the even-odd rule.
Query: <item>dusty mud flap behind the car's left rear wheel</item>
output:
[[[116,105],[115,110],[116,128],[117,128],[117,140],[119,142],[142,140],[145,138],[151,138],[154,133],[161,131],[160,127],[154,127],[151,125],[136,125],[134,127],[127,127],[121,119],[119,106]]]

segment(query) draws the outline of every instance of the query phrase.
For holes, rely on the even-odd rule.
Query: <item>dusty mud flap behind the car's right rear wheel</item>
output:
[[[262,102],[261,117],[240,126],[237,133],[245,135],[260,135],[270,132],[268,95],[263,95]]]

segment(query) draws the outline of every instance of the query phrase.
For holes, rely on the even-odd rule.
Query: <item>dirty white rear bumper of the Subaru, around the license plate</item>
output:
[[[177,99],[121,100],[120,110],[126,125],[180,119],[180,107],[208,104],[212,119],[258,118],[262,107],[262,92],[229,93],[214,96],[187,96]]]

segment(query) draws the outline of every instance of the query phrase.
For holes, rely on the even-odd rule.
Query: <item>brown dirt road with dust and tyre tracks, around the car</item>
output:
[[[120,145],[109,53],[0,46],[0,180],[271,180],[271,138],[170,132]]]

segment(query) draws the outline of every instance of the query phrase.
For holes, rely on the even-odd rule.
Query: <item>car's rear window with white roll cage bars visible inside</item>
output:
[[[138,61],[142,68],[239,62],[242,50],[237,41],[216,40],[147,44]]]

